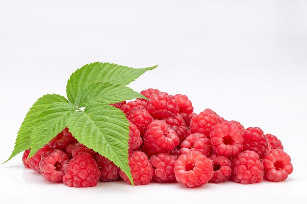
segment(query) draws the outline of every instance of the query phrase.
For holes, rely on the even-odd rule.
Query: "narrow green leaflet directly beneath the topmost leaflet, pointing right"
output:
[[[77,95],[78,107],[85,107],[93,103],[111,104],[146,97],[132,89],[110,82],[93,83]]]

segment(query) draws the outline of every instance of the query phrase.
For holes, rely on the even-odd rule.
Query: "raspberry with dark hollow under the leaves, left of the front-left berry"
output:
[[[41,175],[47,181],[62,182],[69,161],[65,152],[55,149],[48,157],[40,161]]]

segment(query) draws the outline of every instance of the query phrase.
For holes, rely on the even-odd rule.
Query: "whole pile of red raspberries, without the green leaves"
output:
[[[250,184],[283,181],[293,172],[291,159],[277,136],[259,127],[243,127],[211,109],[194,113],[186,95],[157,89],[137,98],[111,104],[129,122],[128,164],[134,185],[179,182],[198,187],[208,182]],[[65,128],[33,157],[23,155],[26,168],[44,179],[73,187],[98,182],[126,181],[111,160],[84,146]]]

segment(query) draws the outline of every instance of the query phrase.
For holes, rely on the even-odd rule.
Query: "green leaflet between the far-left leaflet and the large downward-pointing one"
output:
[[[31,150],[28,158],[32,157],[67,126],[67,118],[75,113],[76,109],[75,105],[64,102],[54,102],[43,109],[36,119],[30,136]]]

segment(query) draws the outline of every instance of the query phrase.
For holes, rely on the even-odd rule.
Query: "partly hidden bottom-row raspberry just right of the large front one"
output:
[[[221,183],[228,181],[231,176],[231,161],[226,156],[212,153],[213,175],[209,182]]]

